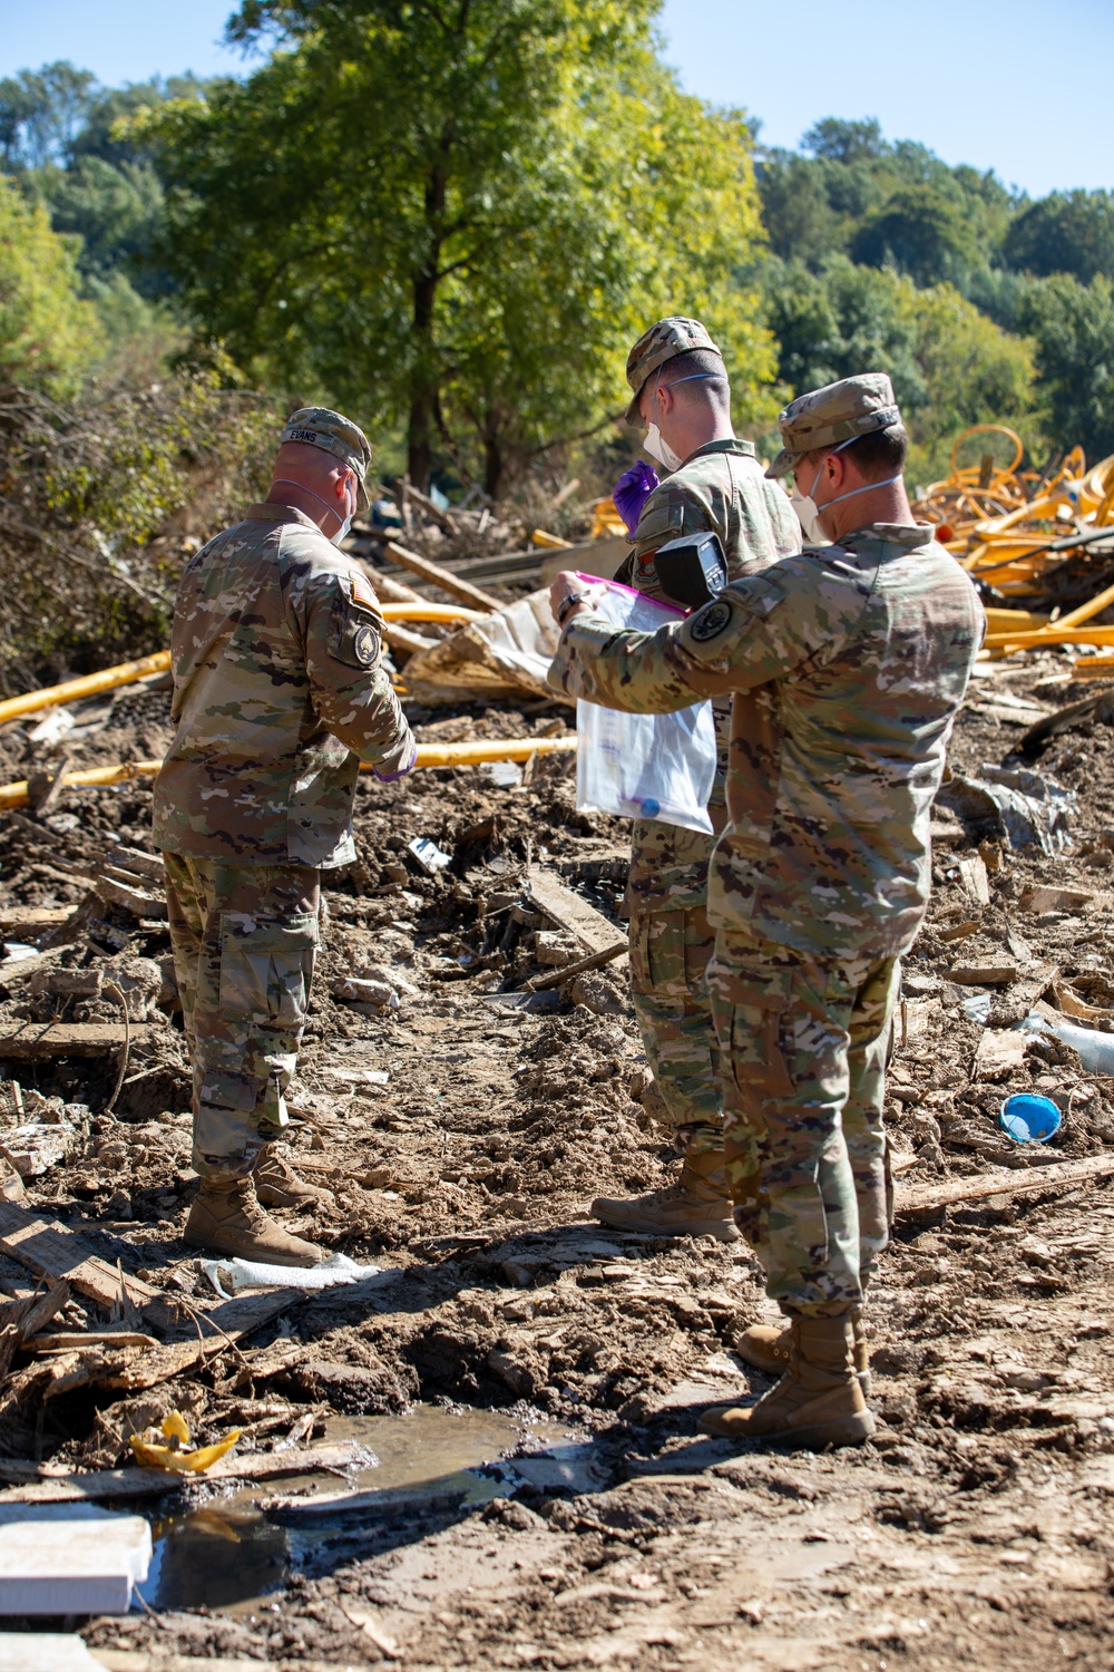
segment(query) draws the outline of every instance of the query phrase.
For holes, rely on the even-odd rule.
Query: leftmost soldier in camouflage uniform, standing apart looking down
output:
[[[369,465],[351,420],[294,413],[267,500],[190,558],[174,610],[177,731],[155,781],[202,1180],[185,1241],[286,1266],[322,1257],[259,1206],[321,1194],[272,1149],[306,1022],[321,873],[356,858],[361,759],[387,781],[416,759],[376,595],[332,543],[366,503]]]

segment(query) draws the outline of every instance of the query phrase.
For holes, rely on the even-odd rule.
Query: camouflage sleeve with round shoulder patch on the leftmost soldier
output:
[[[322,572],[299,597],[314,707],[334,737],[391,782],[414,766],[418,744],[382,665],[382,617],[371,587]]]

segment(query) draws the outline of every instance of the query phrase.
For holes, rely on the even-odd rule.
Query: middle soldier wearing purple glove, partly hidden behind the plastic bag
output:
[[[785,493],[767,482],[750,441],[732,428],[727,368],[698,319],[660,319],[626,363],[633,390],[626,420],[650,426],[646,450],[675,465],[660,485],[645,463],[616,487],[630,518],[631,553],[616,580],[651,599],[666,597],[655,552],[666,540],[713,530],[728,575],[755,573],[800,550],[800,525]],[[730,699],[715,702],[720,759],[708,803],[713,831],[727,818],[725,777]],[[635,1013],[655,1085],[685,1160],[665,1190],[633,1199],[600,1197],[605,1224],[656,1236],[738,1236],[723,1174],[723,1097],[705,985],[713,931],[708,859],[715,836],[663,819],[635,819],[628,884]]]

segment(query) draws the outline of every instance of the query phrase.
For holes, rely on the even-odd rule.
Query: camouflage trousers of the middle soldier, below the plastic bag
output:
[[[705,973],[713,836],[660,819],[633,829],[630,908],[631,1000],[646,1062],[678,1142],[723,1147],[723,1097]]]

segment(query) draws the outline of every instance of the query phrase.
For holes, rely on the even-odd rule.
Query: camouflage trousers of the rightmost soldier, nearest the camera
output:
[[[708,991],[735,1222],[783,1313],[860,1304],[889,1241],[882,1100],[900,960],[812,960],[720,930]]]

